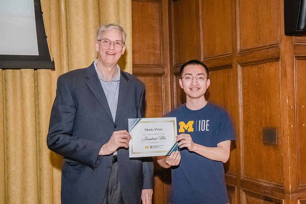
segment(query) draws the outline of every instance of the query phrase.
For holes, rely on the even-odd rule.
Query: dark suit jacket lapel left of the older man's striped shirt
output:
[[[91,92],[95,95],[95,97],[97,98],[97,100],[99,101],[105,112],[107,113],[108,117],[110,117],[110,119],[113,121],[113,116],[112,113],[110,112],[110,106],[108,105],[105,93],[103,91],[103,87],[101,85],[101,82],[99,81],[99,77],[97,75],[97,72],[95,71],[93,63],[86,70],[85,76],[88,78],[86,84],[91,90]]]

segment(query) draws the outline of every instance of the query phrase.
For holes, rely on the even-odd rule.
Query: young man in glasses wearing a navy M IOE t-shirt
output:
[[[172,167],[170,203],[229,203],[223,163],[235,139],[230,116],[206,101],[210,80],[202,62],[185,63],[179,83],[186,103],[165,115],[177,118],[179,150],[157,157],[159,165]]]

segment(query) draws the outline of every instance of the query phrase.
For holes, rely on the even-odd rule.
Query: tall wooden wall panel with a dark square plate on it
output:
[[[243,179],[283,188],[279,61],[240,69]],[[277,128],[277,145],[263,143],[263,128]]]

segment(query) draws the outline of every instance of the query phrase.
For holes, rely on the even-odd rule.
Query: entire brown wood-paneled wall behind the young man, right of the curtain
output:
[[[224,164],[231,204],[306,200],[306,37],[284,35],[283,6],[132,0],[133,74],[146,84],[146,117],[186,101],[183,63],[209,68],[207,100],[230,112],[237,132]],[[263,128],[276,128],[277,145],[263,142]],[[167,179],[170,171],[155,162],[153,203],[168,202]]]

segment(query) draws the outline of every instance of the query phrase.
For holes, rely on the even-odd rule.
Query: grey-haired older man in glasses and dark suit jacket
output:
[[[129,158],[128,118],[144,117],[144,84],[120,70],[125,31],[97,32],[98,59],[58,77],[47,145],[64,157],[62,203],[151,203],[151,158]]]

